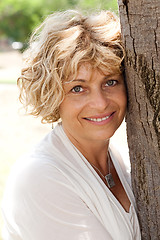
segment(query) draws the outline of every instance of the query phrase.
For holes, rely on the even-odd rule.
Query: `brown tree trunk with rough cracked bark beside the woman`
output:
[[[160,0],[118,0],[127,136],[142,239],[160,239]]]

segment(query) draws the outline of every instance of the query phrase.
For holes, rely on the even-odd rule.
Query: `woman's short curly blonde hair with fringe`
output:
[[[63,81],[77,74],[80,64],[121,73],[124,49],[119,18],[110,11],[89,16],[68,10],[53,13],[33,33],[17,80],[20,101],[42,122],[60,118]]]

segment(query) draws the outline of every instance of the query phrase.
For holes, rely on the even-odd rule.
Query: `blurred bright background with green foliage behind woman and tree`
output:
[[[23,51],[32,31],[57,10],[109,9],[118,14],[117,0],[2,0],[0,1],[0,203],[14,162],[51,131],[50,125],[25,116],[18,102],[16,80]],[[126,146],[125,123],[114,137]],[[0,213],[0,240],[3,221]]]

